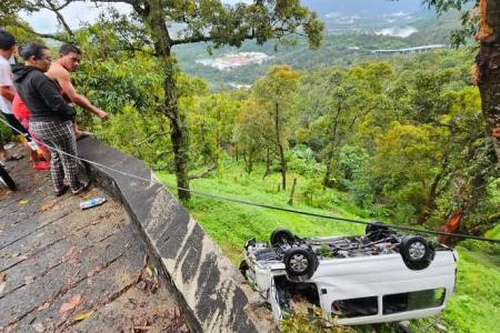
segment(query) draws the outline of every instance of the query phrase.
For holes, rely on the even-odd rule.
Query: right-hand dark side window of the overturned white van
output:
[[[444,295],[443,287],[384,295],[382,297],[383,314],[440,306],[444,302]]]

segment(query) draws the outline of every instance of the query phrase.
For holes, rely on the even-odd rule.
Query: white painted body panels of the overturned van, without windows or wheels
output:
[[[343,259],[321,258],[314,274],[303,282],[317,285],[321,309],[327,313],[332,313],[334,301],[378,297],[378,314],[339,319],[340,324],[412,320],[437,314],[444,309],[454,287],[457,259],[457,252],[451,249],[437,251],[427,269],[413,271],[406,266],[401,255],[397,253]],[[281,320],[283,310],[279,305],[273,281],[276,276],[286,275],[284,264],[279,261],[254,262],[250,271],[254,273],[254,283],[260,294],[270,303],[274,319]],[[446,290],[440,306],[383,314],[383,295],[436,289]]]

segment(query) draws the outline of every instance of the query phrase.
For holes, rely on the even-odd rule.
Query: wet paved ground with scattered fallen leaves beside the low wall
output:
[[[118,202],[56,198],[48,172],[7,167],[19,190],[0,184],[0,332],[188,332]],[[80,210],[93,196],[108,201]]]

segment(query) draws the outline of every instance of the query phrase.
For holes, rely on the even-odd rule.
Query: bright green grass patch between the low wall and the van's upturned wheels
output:
[[[321,210],[308,206],[296,198],[296,204],[288,205],[290,196],[287,192],[278,192],[280,175],[272,174],[262,180],[262,170],[252,173],[251,176],[241,173],[238,168],[227,170],[227,175],[214,179],[198,179],[191,182],[192,190],[208,192],[230,198],[244,199],[252,202],[271,204],[282,208],[291,208],[301,211],[338,215],[343,218],[360,219],[358,211],[349,211],[349,202],[341,200],[340,193],[330,191],[339,202],[338,206],[331,210]],[[158,176],[167,184],[174,184],[174,176],[159,173]],[[296,193],[302,190],[301,183],[304,181],[299,175]],[[299,196],[299,195],[297,195]],[[277,228],[286,228],[301,236],[314,235],[342,235],[359,234],[364,230],[364,225],[349,224],[332,220],[310,218],[282,211],[274,211],[226,201],[194,195],[188,204],[191,214],[201,223],[203,229],[222,248],[224,253],[233,263],[239,263],[242,255],[242,246],[251,238],[267,241],[270,233]]]

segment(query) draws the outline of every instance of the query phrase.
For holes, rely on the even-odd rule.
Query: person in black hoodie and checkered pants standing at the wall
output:
[[[56,195],[62,195],[68,185],[73,194],[83,192],[88,184],[78,180],[77,142],[72,129],[74,108],[62,98],[57,84],[44,72],[49,70],[51,51],[42,44],[29,44],[21,57],[24,68],[14,70],[14,87],[28,109],[31,111],[30,129],[49,148],[51,175]]]

